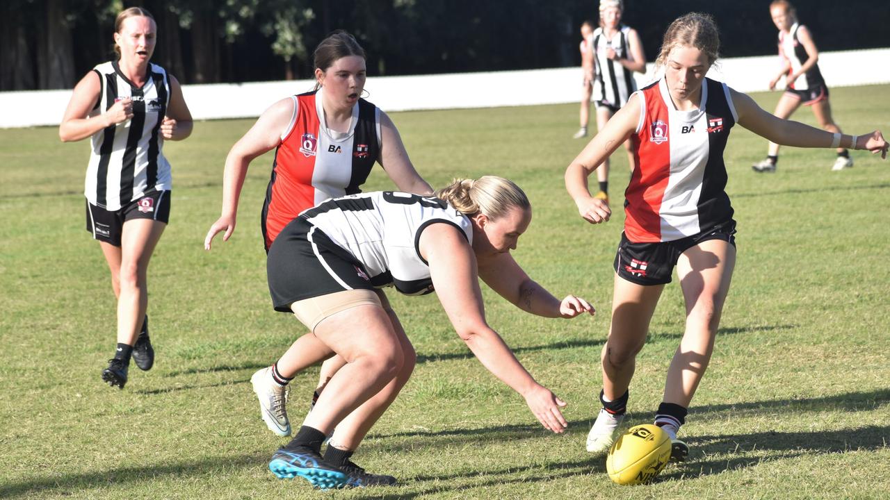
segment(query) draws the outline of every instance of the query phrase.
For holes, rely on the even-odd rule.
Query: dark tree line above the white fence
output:
[[[117,12],[147,8],[158,24],[153,61],[184,84],[310,77],[312,50],[336,28],[368,52],[369,75],[576,65],[578,26],[593,0],[4,0],[0,91],[71,88],[109,60]],[[654,60],[667,24],[714,15],[722,55],[776,52],[769,1],[627,0],[625,22]],[[798,18],[822,51],[890,46],[890,3],[798,0]]]

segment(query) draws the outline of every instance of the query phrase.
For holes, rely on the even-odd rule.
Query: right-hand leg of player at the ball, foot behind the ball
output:
[[[673,441],[673,460],[683,460],[689,453],[676,434],[685,423],[692,396],[714,351],[714,338],[734,268],[735,246],[722,239],[692,246],[680,255],[676,265],[686,304],[686,329],[667,369],[664,400],[655,416],[655,424],[667,431]]]

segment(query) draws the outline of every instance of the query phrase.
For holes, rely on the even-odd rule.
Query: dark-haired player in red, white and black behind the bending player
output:
[[[360,192],[375,163],[383,165],[400,190],[433,193],[411,164],[392,120],[361,99],[366,55],[355,38],[336,31],[321,41],[313,56],[315,90],[272,104],[232,146],[223,173],[223,212],[207,231],[207,250],[217,233],[225,231],[223,241],[231,237],[247,166],[273,148],[275,160],[261,220],[267,252],[281,228],[303,210],[327,198]],[[388,308],[386,296],[380,295]],[[278,362],[251,377],[263,421],[271,431],[290,435],[287,383],[328,356],[330,351],[312,335],[301,337]],[[344,362],[336,357],[325,361],[316,393]]]

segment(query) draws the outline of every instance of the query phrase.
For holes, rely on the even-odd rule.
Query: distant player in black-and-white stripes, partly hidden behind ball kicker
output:
[[[590,36],[591,49],[587,51],[595,69],[594,101],[596,104],[596,129],[603,130],[611,117],[636,91],[634,72],[644,73],[646,58],[643,44],[634,28],[621,24],[623,2],[600,0],[600,27]],[[587,130],[585,129],[585,133]],[[634,145],[627,141],[627,164],[634,170]],[[599,190],[596,198],[609,203],[609,157],[603,159],[596,170]]]

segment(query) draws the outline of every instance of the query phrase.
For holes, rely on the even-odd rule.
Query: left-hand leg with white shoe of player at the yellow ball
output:
[[[612,320],[609,337],[603,345],[603,408],[587,433],[587,451],[605,453],[618,435],[627,413],[630,380],[634,376],[636,354],[643,349],[649,322],[664,285],[643,286],[615,275]]]

